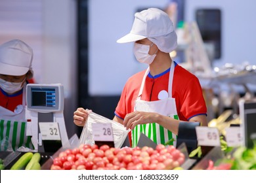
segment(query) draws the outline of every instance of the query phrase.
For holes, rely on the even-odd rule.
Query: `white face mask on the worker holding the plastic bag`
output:
[[[156,53],[152,56],[148,54],[150,47],[152,45],[153,43],[151,45],[144,45],[144,44],[139,44],[135,42],[133,47],[133,53],[135,54],[136,59],[140,63],[146,63],[150,65],[154,61],[156,57]],[[156,50],[156,52],[158,52],[158,50]]]

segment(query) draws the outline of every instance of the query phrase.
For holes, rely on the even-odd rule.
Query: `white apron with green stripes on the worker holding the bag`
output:
[[[135,111],[144,111],[144,112],[157,112],[158,114],[169,116],[176,120],[179,120],[177,114],[177,108],[175,99],[172,97],[172,86],[173,86],[173,73],[174,73],[175,63],[171,63],[171,69],[169,73],[169,85],[168,85],[168,95],[166,93],[166,97],[160,99],[159,101],[142,101],[140,100],[140,96],[143,91],[144,83],[146,80],[146,76],[150,72],[150,69],[146,70],[146,73],[142,79],[142,84],[140,86],[139,97],[135,101]],[[165,144],[165,142],[170,139],[175,139],[173,145],[176,146],[177,136],[171,131],[165,129],[159,124],[150,123],[150,124],[140,124],[135,126],[135,129],[132,131],[132,146],[135,148],[139,141],[140,133],[144,133],[149,139],[154,141],[156,144]]]

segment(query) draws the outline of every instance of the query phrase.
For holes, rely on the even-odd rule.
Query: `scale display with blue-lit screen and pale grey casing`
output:
[[[28,110],[38,112],[54,112],[63,110],[63,86],[59,84],[28,84],[27,107]]]

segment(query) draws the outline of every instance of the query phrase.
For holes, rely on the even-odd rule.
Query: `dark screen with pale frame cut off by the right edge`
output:
[[[244,101],[239,103],[242,144],[247,148],[253,148],[253,139],[256,139],[256,101]]]

